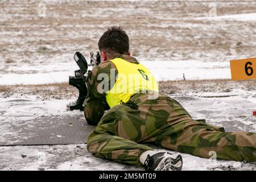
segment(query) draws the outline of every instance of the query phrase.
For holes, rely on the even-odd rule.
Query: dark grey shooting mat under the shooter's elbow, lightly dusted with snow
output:
[[[0,146],[86,143],[95,126],[76,117],[42,117],[11,125],[11,133],[0,140]]]

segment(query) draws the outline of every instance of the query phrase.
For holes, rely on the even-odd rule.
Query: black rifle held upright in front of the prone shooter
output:
[[[88,95],[88,89],[86,86],[86,79],[88,77],[88,67],[96,66],[101,63],[100,52],[97,52],[96,58],[93,57],[93,52],[90,53],[90,64],[87,64],[86,59],[80,52],[76,52],[74,55],[76,64],[79,66],[79,70],[75,71],[75,76],[69,76],[69,85],[75,86],[79,90],[79,97],[75,102],[70,102],[68,105],[69,110],[84,110],[84,101]]]

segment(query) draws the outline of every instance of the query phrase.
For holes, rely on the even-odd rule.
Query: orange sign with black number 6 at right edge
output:
[[[247,80],[256,78],[256,57],[230,61],[231,79]]]

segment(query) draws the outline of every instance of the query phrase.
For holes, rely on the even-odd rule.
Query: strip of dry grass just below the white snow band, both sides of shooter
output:
[[[188,92],[230,92],[233,89],[255,90],[256,80],[185,80],[159,82],[160,92],[165,94],[187,94]],[[0,96],[10,97],[13,94],[36,95],[43,100],[76,98],[78,90],[68,82],[42,85],[0,86]]]

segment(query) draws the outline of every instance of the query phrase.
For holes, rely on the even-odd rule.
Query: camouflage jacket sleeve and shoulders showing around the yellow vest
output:
[[[130,63],[139,64],[137,59],[134,57],[128,56],[128,55],[118,55],[115,58],[121,58],[126,61],[129,61]],[[104,61],[101,64],[97,65],[97,67],[94,67],[92,69],[92,72],[89,73],[86,83],[88,86],[88,98],[86,105],[84,107],[84,113],[86,121],[90,125],[97,125],[97,123],[102,118],[102,115],[104,114],[105,110],[110,109],[108,103],[106,102],[105,92],[100,93],[98,92],[98,84],[104,80],[104,78],[99,79],[98,77],[101,73],[106,73],[108,77],[110,78],[110,70],[114,70],[115,79],[108,79],[109,80],[109,88],[108,90],[112,89],[113,85],[115,84],[116,78],[117,78],[117,68],[111,61]],[[113,71],[112,71],[113,72]],[[99,79],[99,80],[98,80]]]

